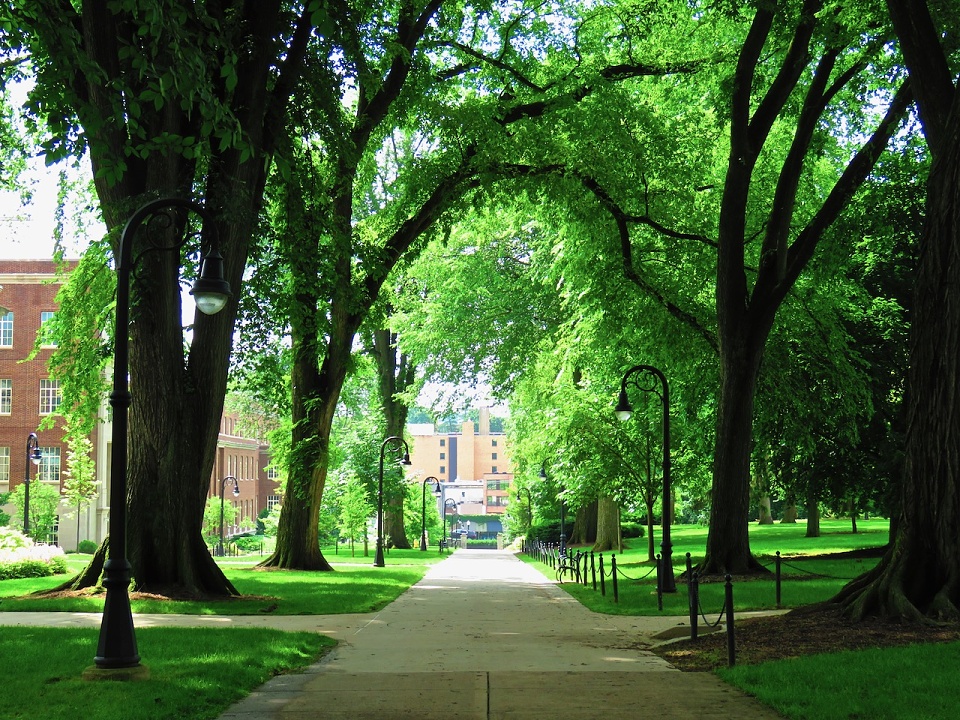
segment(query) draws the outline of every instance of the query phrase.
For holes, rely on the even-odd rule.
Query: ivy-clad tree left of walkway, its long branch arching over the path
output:
[[[277,247],[290,278],[293,462],[277,549],[264,564],[317,570],[330,568],[315,528],[337,399],[355,335],[390,274],[441,235],[470,191],[503,173],[493,140],[525,150],[512,125],[576,103],[597,81],[664,72],[565,59],[558,73],[542,56],[571,38],[566,18],[544,22],[523,4],[464,11],[431,0],[330,12],[313,58],[323,77],[290,135],[290,172],[271,218],[274,232],[300,243]],[[538,73],[546,84],[523,82]]]

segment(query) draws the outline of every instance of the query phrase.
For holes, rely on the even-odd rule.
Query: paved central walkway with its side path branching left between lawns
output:
[[[10,613],[0,624],[99,626],[101,619],[55,615]],[[712,674],[681,673],[649,651],[655,635],[683,619],[591,612],[509,552],[458,550],[379,613],[137,615],[135,622],[269,626],[340,641],[219,720],[779,717]]]

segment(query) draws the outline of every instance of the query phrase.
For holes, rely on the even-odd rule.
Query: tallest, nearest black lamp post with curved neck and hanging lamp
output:
[[[127,560],[127,410],[130,407],[130,390],[127,382],[129,371],[129,325],[130,325],[130,274],[137,261],[133,257],[133,239],[144,222],[163,218],[172,222],[174,208],[191,210],[204,219],[210,231],[210,243],[205,255],[200,258],[200,272],[190,293],[197,308],[207,315],[219,312],[230,297],[230,285],[223,278],[223,258],[220,256],[213,218],[202,205],[183,198],[161,198],[138,209],[127,221],[120,234],[120,252],[117,263],[116,333],[113,353],[113,392],[110,406],[113,408],[113,435],[110,484],[110,545],[107,561],[103,566],[103,586],[106,596],[103,619],[100,625],[100,641],[93,661],[97,670],[122,670],[140,665],[137,640],[133,630],[133,614],[130,610],[130,562]],[[179,250],[186,243],[184,236],[172,246],[148,248],[150,250]]]

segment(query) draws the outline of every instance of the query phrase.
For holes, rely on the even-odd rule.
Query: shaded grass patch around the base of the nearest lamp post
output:
[[[314,662],[334,645],[316,633],[253,628],[141,628],[149,679],[88,681],[97,630],[5,628],[0,718],[5,720],[210,720],[278,673]]]

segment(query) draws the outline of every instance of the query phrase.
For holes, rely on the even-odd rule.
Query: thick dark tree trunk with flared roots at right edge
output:
[[[960,30],[950,5],[888,0],[933,165],[927,179],[907,379],[903,514],[890,550],[838,596],[856,617],[960,617],[960,88],[945,38]],[[933,20],[938,10],[940,27]],[[955,51],[953,51],[955,52]]]

